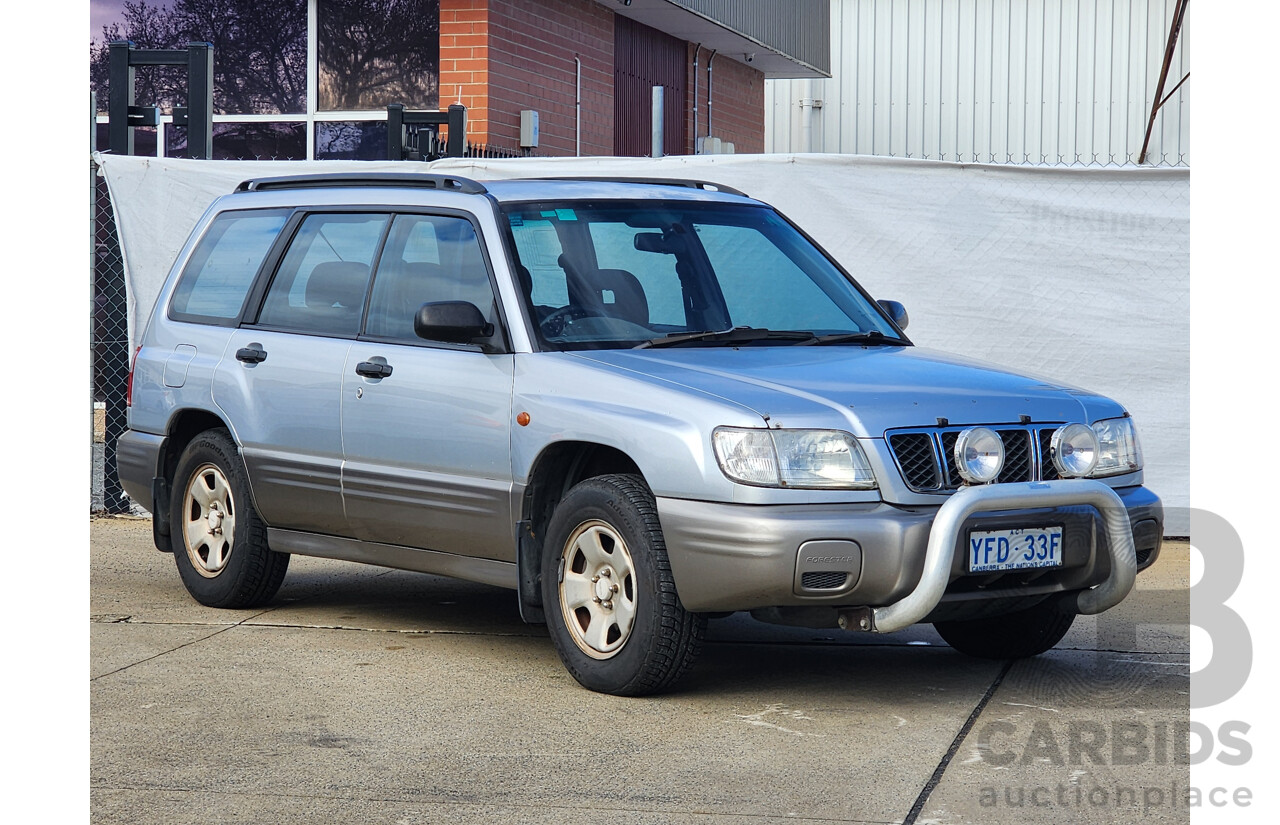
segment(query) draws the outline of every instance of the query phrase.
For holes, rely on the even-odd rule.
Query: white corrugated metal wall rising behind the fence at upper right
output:
[[[765,82],[765,151],[1133,164],[1175,0],[832,0],[832,79]],[[1165,93],[1190,70],[1190,12]],[[1190,164],[1188,81],[1148,164]],[[822,101],[820,109],[809,101]]]

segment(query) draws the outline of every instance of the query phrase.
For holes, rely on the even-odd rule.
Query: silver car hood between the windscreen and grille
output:
[[[774,426],[886,430],[1093,422],[1124,414],[1114,400],[996,365],[919,347],[716,347],[609,349],[573,356],[636,377],[698,390]]]

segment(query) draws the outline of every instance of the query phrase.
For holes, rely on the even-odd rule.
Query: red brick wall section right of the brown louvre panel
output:
[[[694,136],[694,50],[689,45],[689,141],[691,155],[698,136],[707,132],[707,60],[712,52],[703,49],[698,55],[698,136]],[[726,55],[716,55],[712,61],[712,130],[710,134],[733,143],[739,155],[764,151],[764,73]],[[440,98],[444,100],[443,97]]]

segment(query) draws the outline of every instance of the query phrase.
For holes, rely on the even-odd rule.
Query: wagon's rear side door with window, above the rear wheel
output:
[[[271,527],[351,535],[342,500],[340,393],[390,216],[296,219],[261,307],[232,335],[214,400],[236,428]]]

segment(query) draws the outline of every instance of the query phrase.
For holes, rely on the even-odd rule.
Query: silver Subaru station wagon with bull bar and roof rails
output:
[[[717,184],[246,180],[160,292],[120,480],[201,604],[291,554],[485,582],[594,691],[735,611],[1039,654],[1160,551],[1133,421],[906,325]]]

